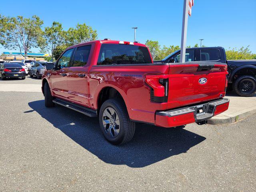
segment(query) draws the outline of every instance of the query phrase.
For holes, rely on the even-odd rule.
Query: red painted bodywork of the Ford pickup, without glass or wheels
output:
[[[156,111],[214,100],[220,98],[220,94],[222,97],[225,95],[227,74],[225,64],[215,64],[210,71],[201,72],[197,71],[199,64],[196,62],[97,66],[100,47],[104,43],[119,44],[119,41],[102,40],[72,46],[75,48],[92,45],[86,66],[44,72],[43,81],[44,79],[48,81],[54,97],[98,110],[100,92],[103,88],[112,87],[124,99],[130,119],[170,127],[194,122],[194,116],[186,114],[177,117],[174,121],[174,118],[156,117]],[[139,43],[134,45],[145,46]],[[61,76],[63,72],[67,73],[67,76]],[[85,74],[85,77],[81,78],[78,74]],[[150,87],[145,83],[145,76],[148,74],[161,75],[169,79],[167,102],[157,103],[150,100]],[[200,78],[207,78],[206,84],[199,84]],[[161,85],[157,84],[157,87],[160,88]],[[162,96],[162,93],[159,92],[155,96]],[[217,112],[226,109],[218,108]]]

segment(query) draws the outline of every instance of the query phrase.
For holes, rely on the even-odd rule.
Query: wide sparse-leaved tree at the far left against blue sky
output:
[[[28,51],[37,46],[42,36],[43,21],[36,15],[32,18],[23,16],[5,18],[5,30],[1,35],[1,45],[5,48],[18,49],[26,59]]]

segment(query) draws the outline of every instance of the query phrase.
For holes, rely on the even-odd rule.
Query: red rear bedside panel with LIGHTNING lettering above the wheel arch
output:
[[[154,123],[155,111],[165,110],[167,103],[150,102],[150,88],[144,84],[144,77],[146,74],[168,74],[168,70],[168,64],[92,66],[88,75],[91,107],[97,109],[100,91],[112,87],[124,98],[132,120]]]

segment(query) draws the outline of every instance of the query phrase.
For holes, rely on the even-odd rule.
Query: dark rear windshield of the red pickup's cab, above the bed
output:
[[[102,44],[98,65],[152,63],[148,48],[125,44]]]

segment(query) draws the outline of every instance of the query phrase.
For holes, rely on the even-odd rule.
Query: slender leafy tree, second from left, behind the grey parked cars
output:
[[[38,39],[38,46],[41,51],[48,52],[51,58],[53,58],[54,50],[57,46],[64,44],[64,31],[62,24],[59,22],[53,22],[52,26],[44,28],[42,38]]]

